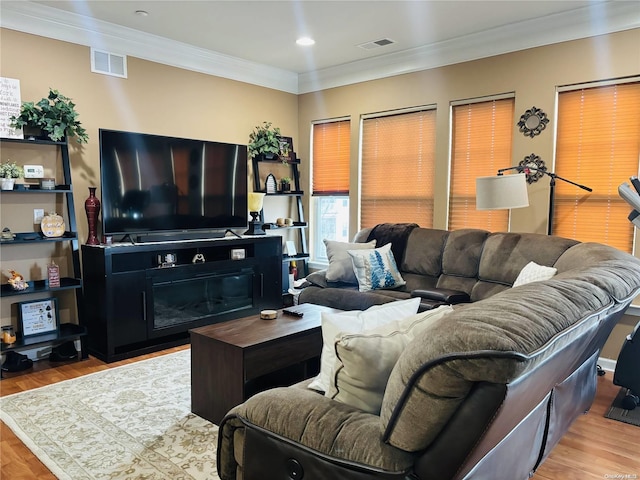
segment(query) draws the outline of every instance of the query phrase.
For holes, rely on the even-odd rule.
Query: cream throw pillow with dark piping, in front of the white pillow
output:
[[[389,375],[407,344],[452,311],[451,305],[443,305],[374,329],[341,333],[335,340],[335,373],[327,396],[379,414]]]

